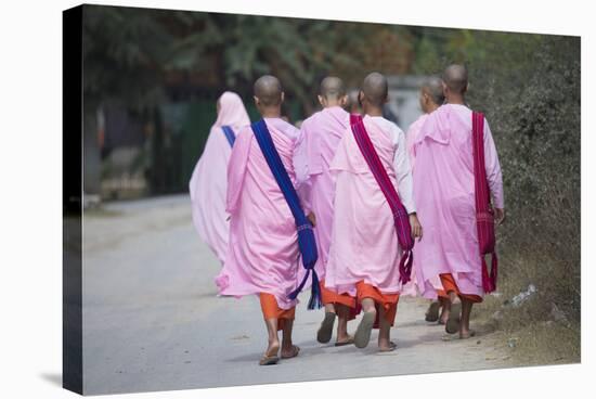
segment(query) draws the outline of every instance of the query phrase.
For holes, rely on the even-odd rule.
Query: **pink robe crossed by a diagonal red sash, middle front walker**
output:
[[[381,121],[385,126],[390,126],[385,119],[377,121],[373,117],[364,117],[366,131],[400,197],[402,194],[404,198],[409,195],[411,197],[411,193],[400,193],[399,186],[406,185],[398,183],[400,179],[394,169],[396,152],[399,149],[396,147],[390,132],[380,128]],[[401,145],[405,145],[405,140],[401,141]],[[405,149],[401,150],[405,156]],[[403,165],[407,170],[398,172],[409,176],[409,163]],[[339,294],[355,296],[355,284],[363,281],[377,287],[381,294],[399,294],[401,249],[391,208],[350,128],[337,147],[331,169],[336,173],[336,193],[325,286]]]

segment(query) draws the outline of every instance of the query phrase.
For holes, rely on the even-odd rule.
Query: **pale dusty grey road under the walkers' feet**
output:
[[[258,299],[216,296],[220,267],[192,227],[187,196],[107,204],[86,215],[83,232],[86,394],[507,365],[490,335],[442,342],[442,329],[423,320],[420,299],[400,301],[394,352],[320,345],[322,310],[307,311],[302,297],[294,338],[300,356],[259,366],[265,329]]]

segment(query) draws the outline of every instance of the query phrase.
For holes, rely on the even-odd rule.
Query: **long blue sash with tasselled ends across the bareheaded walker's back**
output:
[[[252,131],[255,132],[255,138],[259,143],[261,152],[263,153],[264,159],[280,186],[284,197],[286,198],[287,205],[294,215],[294,220],[296,222],[296,229],[298,230],[298,247],[300,249],[300,255],[302,257],[302,266],[307,269],[305,278],[300,282],[300,285],[288,295],[290,299],[296,299],[298,294],[305,287],[309,274],[312,272],[312,284],[311,284],[311,296],[309,299],[309,309],[314,309],[321,307],[321,287],[319,286],[319,276],[314,270],[314,263],[316,263],[318,253],[316,253],[316,243],[314,241],[314,233],[312,231],[312,224],[305,215],[302,207],[300,206],[300,200],[296,194],[296,190],[289,180],[287,170],[280,158],[280,154],[273,144],[271,139],[271,133],[267,128],[267,124],[263,119],[260,119],[251,125]]]

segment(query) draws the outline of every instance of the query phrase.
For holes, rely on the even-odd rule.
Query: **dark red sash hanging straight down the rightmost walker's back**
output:
[[[484,115],[471,114],[472,152],[474,152],[474,188],[476,195],[476,228],[478,244],[482,258],[482,288],[485,293],[496,289],[498,259],[496,258],[494,236],[494,210],[491,206],[489,182],[484,166]],[[492,255],[491,272],[489,274],[484,255]]]

